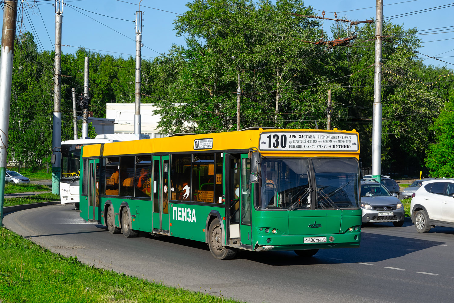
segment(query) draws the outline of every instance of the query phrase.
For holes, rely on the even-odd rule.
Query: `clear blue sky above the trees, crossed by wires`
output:
[[[24,0],[25,1],[25,0]],[[140,0],[67,0],[63,7],[62,52],[74,53],[79,47],[127,58],[135,56],[135,12]],[[385,20],[404,24],[405,29],[417,27],[423,47],[419,52],[445,62],[424,58],[426,65],[446,65],[454,68],[454,0],[383,0]],[[184,37],[177,37],[173,20],[184,14],[187,0],[142,0],[143,12],[142,57],[168,53],[172,44],[185,45]],[[307,0],[325,17],[344,17],[348,20],[375,19],[375,0]],[[20,25],[16,33],[30,31],[35,36],[38,50],[53,50],[55,41],[55,0],[25,1],[19,13]],[[403,14],[403,15],[400,15]],[[409,15],[411,14],[411,15]],[[324,30],[330,33],[330,21]],[[452,63],[452,64],[451,64]]]

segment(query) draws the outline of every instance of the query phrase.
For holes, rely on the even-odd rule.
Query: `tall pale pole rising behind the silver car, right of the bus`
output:
[[[374,104],[372,106],[372,178],[380,182],[381,176],[381,35],[383,0],[376,0],[375,8],[375,74]]]

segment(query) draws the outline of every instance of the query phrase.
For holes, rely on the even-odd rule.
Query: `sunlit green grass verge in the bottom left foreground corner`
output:
[[[0,301],[238,302],[221,293],[211,296],[90,267],[77,258],[51,253],[6,228],[0,228]]]

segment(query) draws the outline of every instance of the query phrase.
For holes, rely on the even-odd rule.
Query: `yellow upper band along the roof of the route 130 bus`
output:
[[[339,141],[338,139],[334,140],[334,143],[327,143],[326,146],[333,146],[329,150],[322,149],[321,150],[303,150],[297,148],[300,145],[301,141],[306,140],[304,138],[302,140],[294,140],[295,142],[298,141],[298,145],[293,150],[286,150],[280,147],[278,148],[271,148],[271,149],[260,149],[260,145],[265,146],[264,138],[268,138],[266,135],[269,134],[275,135],[277,134],[297,134],[303,136],[306,133],[310,133],[309,137],[313,136],[323,136],[325,137],[328,135],[332,139],[332,137],[339,137],[344,134],[347,137],[354,136],[353,138],[357,144],[356,146],[350,146],[356,150],[339,150],[336,149],[337,146],[345,146],[336,144]],[[261,136],[264,134],[265,136]],[[205,140],[203,140],[205,139]],[[271,142],[271,137],[268,138]],[[296,138],[298,139],[298,138]],[[299,138],[301,139],[301,138]],[[309,138],[311,139],[311,138]],[[327,139],[326,142],[331,142],[333,140]],[[287,141],[291,141],[291,139],[286,139]],[[338,141],[336,141],[338,140]],[[275,139],[273,138],[273,143]],[[319,139],[321,142],[321,139]],[[323,142],[325,142],[323,141]],[[339,142],[345,142],[345,140],[341,140]],[[331,145],[329,145],[331,144]],[[336,145],[335,145],[336,144]],[[102,147],[104,145],[104,147]],[[271,144],[270,144],[271,145]],[[290,145],[287,145],[290,146]],[[307,145],[304,145],[307,146]],[[320,145],[318,145],[320,146]],[[211,148],[210,148],[211,147]],[[214,152],[214,151],[247,151],[250,148],[257,148],[262,154],[266,154],[267,156],[289,156],[290,154],[304,154],[304,156],[314,157],[314,156],[323,156],[323,155],[330,155],[336,154],[336,156],[349,156],[349,157],[359,157],[360,147],[359,147],[359,134],[358,132],[353,129],[352,131],[347,130],[326,130],[326,129],[254,129],[254,130],[242,130],[242,131],[234,131],[234,132],[224,132],[224,133],[212,133],[212,134],[194,134],[194,135],[182,135],[182,136],[171,136],[165,138],[155,138],[155,139],[142,139],[142,140],[134,140],[134,141],[123,141],[123,142],[114,142],[114,143],[106,143],[106,144],[94,144],[94,145],[86,145],[84,146],[83,150],[83,157],[99,157],[99,156],[119,156],[119,155],[133,155],[133,154],[158,154],[158,153],[178,153],[178,152]]]

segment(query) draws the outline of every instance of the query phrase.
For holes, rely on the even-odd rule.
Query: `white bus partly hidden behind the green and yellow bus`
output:
[[[61,204],[74,204],[79,209],[80,150],[83,145],[149,139],[148,134],[99,134],[95,139],[76,139],[61,142]]]

